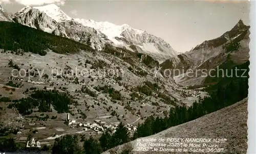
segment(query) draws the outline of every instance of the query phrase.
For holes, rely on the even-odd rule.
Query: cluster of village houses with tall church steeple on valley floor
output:
[[[76,122],[76,120],[70,119],[70,116],[68,114],[67,120],[69,121],[69,125],[79,125],[80,127],[84,127],[83,130],[87,131],[88,129],[93,130],[97,132],[98,134],[101,134],[105,132],[106,130],[110,130],[112,133],[116,132],[118,124],[107,124],[105,121],[101,120],[94,120],[93,123],[91,122]],[[132,124],[126,124],[125,127],[131,134],[133,131],[137,130],[137,126],[133,126]]]

